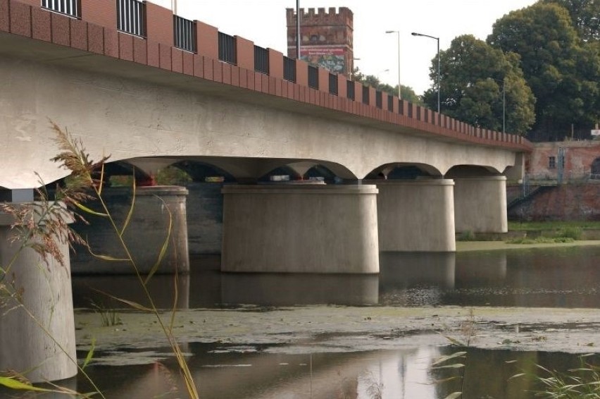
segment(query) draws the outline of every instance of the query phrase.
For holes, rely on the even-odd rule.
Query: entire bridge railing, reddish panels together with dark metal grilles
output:
[[[32,18],[32,11],[13,11],[18,7],[31,8],[32,0],[2,1],[9,7],[0,7],[0,31],[45,37],[46,41],[63,46],[310,102],[433,134],[473,142],[482,140],[485,145],[499,143],[530,148],[523,137],[469,126],[364,86],[349,76],[330,73],[325,68],[292,59],[273,49],[263,49],[250,40],[227,35],[199,20],[175,16],[173,11],[151,1],[41,0],[41,8],[54,13],[36,18]],[[55,24],[54,19],[65,18],[61,14],[80,18],[79,25],[68,21]],[[23,18],[23,21],[13,23],[14,18]],[[8,23],[4,22],[6,20]],[[34,24],[39,25],[34,28]],[[67,29],[65,24],[70,24]],[[55,35],[55,29],[61,31]],[[42,30],[48,32],[42,35]],[[66,39],[63,39],[64,32],[68,32]],[[125,37],[123,33],[133,36]]]

